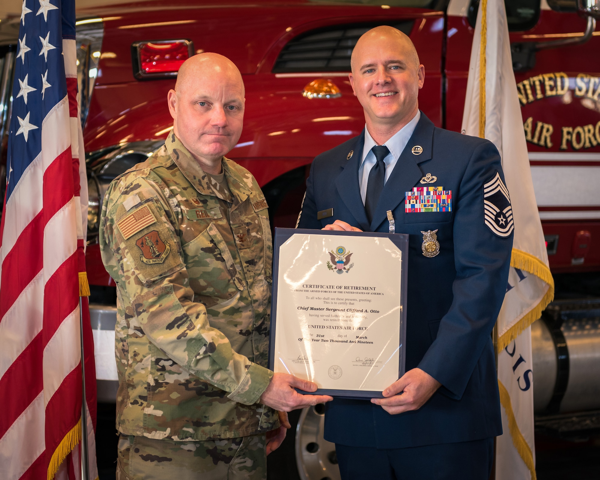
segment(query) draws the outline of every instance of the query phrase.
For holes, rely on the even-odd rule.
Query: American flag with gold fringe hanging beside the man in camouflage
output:
[[[0,225],[2,480],[80,477],[83,159],[75,2],[23,0]],[[94,344],[86,298],[82,305],[93,480]]]

